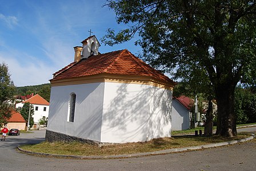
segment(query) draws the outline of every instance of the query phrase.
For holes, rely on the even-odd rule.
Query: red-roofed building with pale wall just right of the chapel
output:
[[[192,113],[190,108],[194,100],[186,96],[173,97],[173,109],[171,116],[171,130],[181,131],[190,128]]]

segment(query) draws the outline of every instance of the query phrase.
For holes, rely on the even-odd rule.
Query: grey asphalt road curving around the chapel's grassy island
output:
[[[256,127],[238,129],[254,132]],[[21,144],[39,143],[45,131],[8,136],[0,141],[0,170],[256,170],[256,143],[171,153],[157,156],[105,160],[74,160],[19,153]]]

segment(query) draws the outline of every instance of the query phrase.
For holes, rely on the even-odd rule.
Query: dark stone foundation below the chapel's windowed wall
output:
[[[65,142],[65,143],[71,143],[71,142],[77,141],[79,143],[86,143],[86,144],[91,144],[91,145],[99,145],[100,144],[98,141],[82,139],[79,137],[69,136],[69,135],[65,135],[63,133],[53,132],[53,131],[49,131],[49,130],[46,130],[45,140],[49,141],[50,143],[53,143],[56,141],[61,141],[61,142]]]

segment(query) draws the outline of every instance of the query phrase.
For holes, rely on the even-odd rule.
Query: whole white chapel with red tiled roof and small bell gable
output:
[[[100,54],[95,36],[51,83],[47,141],[127,143],[170,137],[175,83],[128,50]],[[82,55],[81,55],[82,52]]]

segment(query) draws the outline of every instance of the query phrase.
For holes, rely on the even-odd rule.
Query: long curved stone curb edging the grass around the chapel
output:
[[[249,141],[254,139],[255,135],[252,134],[250,137],[241,140],[233,140],[227,141],[223,143],[215,143],[215,144],[206,144],[206,145],[199,145],[199,146],[189,146],[185,148],[175,148],[175,149],[167,149],[167,150],[160,150],[155,152],[146,152],[146,153],[135,153],[135,154],[122,154],[122,155],[114,155],[114,156],[72,156],[72,155],[59,155],[59,154],[48,154],[48,153],[36,153],[30,152],[27,150],[23,150],[17,146],[17,149],[23,153],[32,154],[36,156],[44,156],[44,157],[58,157],[58,158],[74,158],[74,159],[113,159],[113,158],[129,158],[129,157],[142,157],[142,156],[151,156],[157,154],[167,154],[167,153],[175,153],[175,152],[184,152],[189,150],[199,150],[205,148],[213,148],[217,146],[225,146],[225,145],[232,145],[237,143],[242,143],[245,141]]]

